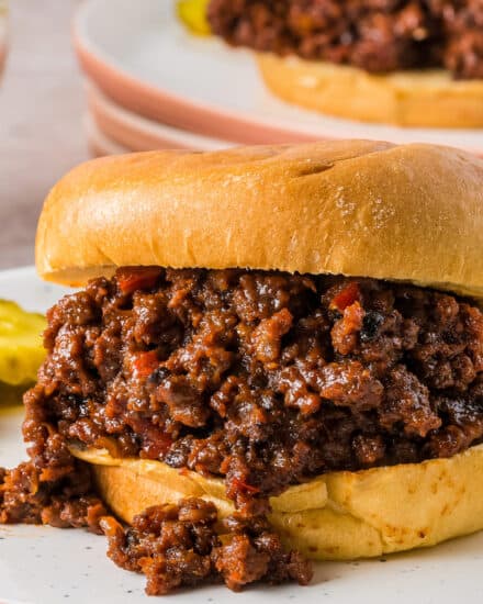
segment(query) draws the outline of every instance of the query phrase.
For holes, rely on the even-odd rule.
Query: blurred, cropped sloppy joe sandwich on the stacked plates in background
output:
[[[210,0],[213,33],[258,53],[267,86],[324,113],[483,126],[478,0]]]

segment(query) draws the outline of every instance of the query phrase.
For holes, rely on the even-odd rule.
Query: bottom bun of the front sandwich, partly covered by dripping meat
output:
[[[126,522],[150,505],[187,496],[233,511],[221,480],[160,461],[72,452],[92,463],[104,502]],[[433,546],[483,528],[483,445],[450,459],[335,472],[271,500],[270,522],[310,558],[352,559]]]

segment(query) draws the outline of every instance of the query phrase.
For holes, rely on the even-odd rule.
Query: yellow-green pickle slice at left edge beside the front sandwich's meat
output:
[[[45,356],[42,346],[45,327],[43,315],[0,300],[0,382],[18,385],[36,380]]]

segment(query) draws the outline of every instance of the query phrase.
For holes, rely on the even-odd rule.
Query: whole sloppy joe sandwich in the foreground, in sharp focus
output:
[[[134,525],[100,519],[110,555],[150,593],[305,583],[304,557],[481,529],[482,208],[481,159],[417,144],[76,168],[37,230],[40,275],[81,289],[47,314],[34,465],[88,463]],[[78,524],[105,514],[92,501]]]

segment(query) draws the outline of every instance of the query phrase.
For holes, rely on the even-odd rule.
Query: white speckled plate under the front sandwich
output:
[[[40,281],[33,268],[0,272],[0,298],[45,311],[66,290]],[[0,414],[0,466],[23,459],[22,410]],[[321,563],[308,588],[256,586],[235,594],[207,586],[167,597],[172,604],[454,604],[483,602],[483,534],[384,559]],[[144,579],[105,557],[105,539],[85,530],[0,526],[0,604],[135,604]]]

